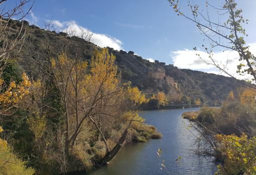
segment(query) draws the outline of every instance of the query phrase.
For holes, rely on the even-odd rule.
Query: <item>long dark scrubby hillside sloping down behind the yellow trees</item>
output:
[[[12,20],[13,35],[20,28],[21,22]],[[90,62],[93,50],[100,49],[91,42],[78,37],[68,37],[66,33],[45,31],[37,26],[29,25],[24,21],[28,37],[25,47],[19,55],[19,64],[31,76],[36,77],[37,72],[32,67],[34,62],[45,65],[49,57],[55,57],[63,51],[69,51],[72,58],[82,57]],[[10,36],[10,38],[15,36]],[[71,39],[71,40],[70,40]],[[116,64],[121,73],[123,82],[131,81],[148,96],[164,91],[168,96],[179,101],[200,99],[206,104],[220,104],[231,90],[241,86],[240,81],[232,78],[208,74],[200,71],[179,69],[174,65],[166,65],[159,61],[151,63],[134,52],[116,51],[108,48],[116,57]],[[54,51],[54,52],[53,52]],[[44,69],[39,66],[38,69]]]

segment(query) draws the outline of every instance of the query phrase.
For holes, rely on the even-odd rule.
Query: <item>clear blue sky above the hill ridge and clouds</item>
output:
[[[184,0],[183,5],[186,2]],[[205,4],[201,0],[194,2],[199,2],[201,6]],[[219,4],[223,1],[209,2]],[[248,43],[256,43],[256,1],[239,0],[237,3],[244,10],[244,17],[249,19],[245,27],[249,33],[246,40]],[[190,51],[195,46],[200,47],[203,43],[203,37],[195,24],[177,16],[167,0],[36,0],[33,14],[27,19],[39,26],[50,19],[62,25],[70,25],[72,22],[93,33],[104,34],[117,42],[115,44],[121,49],[167,64],[176,64],[174,55],[186,49]],[[178,67],[187,68],[189,65],[181,64]],[[191,68],[203,70],[200,67]]]

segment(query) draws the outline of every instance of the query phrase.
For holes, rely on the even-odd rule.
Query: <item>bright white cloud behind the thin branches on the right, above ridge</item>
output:
[[[252,54],[256,55],[256,43],[249,44]],[[209,58],[209,55],[203,51],[194,51],[194,50],[179,50],[172,52],[171,58],[174,62],[174,66],[182,69],[192,69],[199,70],[207,73],[222,74],[215,66],[207,65],[203,62],[196,54],[199,54],[202,59],[207,63],[212,63]],[[239,61],[239,55],[236,51],[224,51],[224,52],[215,52],[213,53],[213,60],[221,67],[226,66],[226,71],[237,78],[250,78],[251,76],[239,76],[236,73],[236,66],[241,62]],[[246,65],[246,63],[243,63]],[[227,75],[226,75],[227,76]]]

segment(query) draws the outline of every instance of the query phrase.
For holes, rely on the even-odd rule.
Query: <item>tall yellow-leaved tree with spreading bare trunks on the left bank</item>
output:
[[[115,57],[107,49],[95,50],[89,66],[81,58],[68,58],[65,53],[51,59],[53,79],[64,110],[65,160],[72,154],[86,123],[92,122],[106,147],[106,156],[99,161],[99,164],[105,164],[119,150],[131,122],[136,121],[136,114],[125,110],[126,90],[121,86],[114,61]],[[127,89],[128,94],[129,90],[131,88]],[[120,139],[110,147],[105,136],[114,127],[112,123],[125,124],[127,121],[129,124]],[[67,163],[64,162],[66,168]],[[67,171],[66,168],[63,170]]]

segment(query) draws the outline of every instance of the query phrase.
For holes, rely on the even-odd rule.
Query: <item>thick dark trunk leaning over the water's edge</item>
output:
[[[126,138],[126,135],[128,133],[128,129],[129,129],[131,123],[132,122],[130,121],[128,126],[124,129],[121,137],[119,138],[118,142],[113,147],[113,149],[111,151],[107,152],[106,155],[96,163],[96,166],[100,167],[100,166],[107,164],[107,162],[110,161],[116,155],[116,153],[119,151],[119,149],[121,148],[121,146]]]

